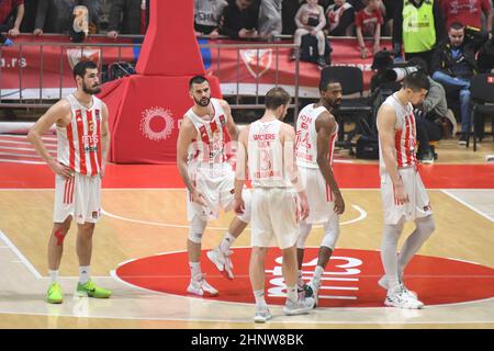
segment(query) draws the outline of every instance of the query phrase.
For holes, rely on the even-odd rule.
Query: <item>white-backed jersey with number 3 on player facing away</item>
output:
[[[281,121],[254,122],[248,138],[248,169],[254,188],[292,186],[283,165]],[[293,157],[293,156],[292,156]]]

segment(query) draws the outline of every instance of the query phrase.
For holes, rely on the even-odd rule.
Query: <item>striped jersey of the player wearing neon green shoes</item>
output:
[[[85,107],[74,94],[66,98],[72,110],[70,123],[57,126],[57,160],[85,176],[101,171],[102,102],[92,97],[91,107]]]

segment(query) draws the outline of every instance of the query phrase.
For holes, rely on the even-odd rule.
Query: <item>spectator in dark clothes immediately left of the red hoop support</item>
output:
[[[145,11],[143,18],[142,11]],[[108,37],[120,34],[146,34],[149,24],[149,0],[113,0],[108,21]]]

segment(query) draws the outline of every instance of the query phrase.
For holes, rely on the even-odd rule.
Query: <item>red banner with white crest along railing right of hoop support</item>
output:
[[[247,44],[246,42],[209,41],[210,44]],[[283,41],[280,44],[291,44]],[[370,44],[370,43],[368,43]],[[360,50],[356,38],[333,38],[332,65],[356,66],[363,71],[364,89],[368,89],[372,77],[372,56],[366,59],[360,57]],[[383,39],[381,47],[391,48],[391,41]],[[205,66],[210,73],[220,78],[222,93],[225,95],[237,93],[255,94],[258,80],[259,94],[263,94],[273,84],[283,86],[293,94],[295,84],[295,61],[290,60],[290,48],[236,48],[202,49]],[[237,53],[238,52],[238,53]],[[237,69],[238,67],[238,69]],[[317,98],[321,69],[315,64],[300,63],[299,84],[300,95]]]

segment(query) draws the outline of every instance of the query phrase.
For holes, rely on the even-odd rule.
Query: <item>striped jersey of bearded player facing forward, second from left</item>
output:
[[[227,117],[217,99],[211,98],[214,109],[214,116],[211,121],[205,121],[198,116],[192,107],[187,111],[186,116],[193,123],[198,131],[197,139],[192,140],[189,147],[190,163],[224,163],[226,162],[225,136]]]

